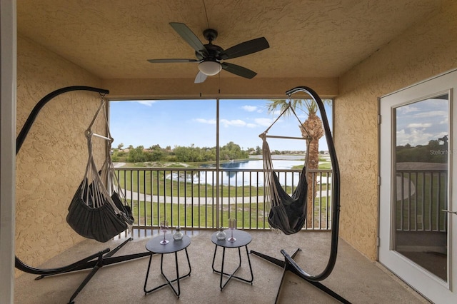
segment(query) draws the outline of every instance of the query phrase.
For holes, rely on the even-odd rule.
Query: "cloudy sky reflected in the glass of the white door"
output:
[[[396,108],[396,145],[427,145],[432,139],[448,135],[448,108],[448,100],[442,98],[429,98]]]

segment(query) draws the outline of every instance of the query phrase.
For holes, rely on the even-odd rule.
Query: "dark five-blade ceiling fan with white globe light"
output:
[[[171,62],[198,62],[199,73],[195,78],[195,83],[204,82],[207,76],[219,74],[221,70],[228,71],[232,74],[253,78],[257,75],[256,72],[250,69],[237,66],[236,64],[229,64],[221,62],[226,59],[233,59],[236,57],[246,56],[253,54],[263,49],[268,49],[268,41],[264,37],[252,39],[249,41],[236,44],[229,49],[222,49],[220,46],[213,44],[214,39],[217,37],[217,31],[214,29],[206,29],[203,36],[209,41],[208,44],[202,44],[199,38],[186,26],[186,24],[171,22],[171,27],[184,39],[194,50],[196,59],[149,59],[152,64],[158,63],[171,63]]]

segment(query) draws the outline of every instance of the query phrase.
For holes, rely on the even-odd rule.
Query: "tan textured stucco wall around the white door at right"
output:
[[[456,29],[457,1],[443,1],[441,11],[340,78],[335,138],[341,166],[341,236],[373,260],[378,231],[378,98],[457,68]]]

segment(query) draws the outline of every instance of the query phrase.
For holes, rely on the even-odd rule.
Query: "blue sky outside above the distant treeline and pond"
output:
[[[268,113],[266,100],[238,99],[220,101],[219,142],[221,146],[233,141],[243,149],[262,146],[260,133],[268,128],[279,113]],[[326,106],[329,121],[331,108]],[[303,122],[306,116],[298,112]],[[134,147],[216,146],[216,101],[111,101],[110,130],[113,147],[124,143]],[[301,137],[298,120],[281,117],[268,131],[276,136]],[[268,138],[272,150],[305,150],[305,141]],[[327,150],[325,138],[319,150]]]

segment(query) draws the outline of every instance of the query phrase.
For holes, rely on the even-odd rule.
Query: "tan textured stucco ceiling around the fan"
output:
[[[227,62],[256,77],[338,77],[440,5],[439,0],[17,0],[21,36],[101,78],[195,78],[195,59],[171,28],[219,31],[228,49],[264,36],[270,48]],[[206,18],[207,16],[207,18]],[[226,71],[221,77],[236,77]]]

